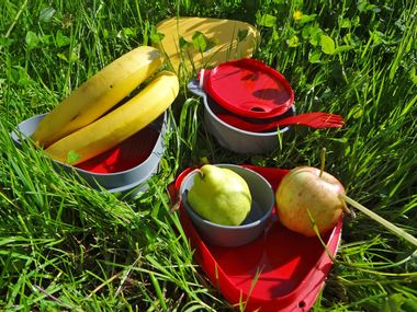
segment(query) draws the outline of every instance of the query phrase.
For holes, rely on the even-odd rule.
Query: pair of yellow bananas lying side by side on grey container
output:
[[[137,47],[91,77],[56,106],[32,135],[52,159],[71,165],[89,160],[127,139],[162,114],[179,92],[170,71],[151,76],[162,65],[158,49]],[[140,83],[140,92],[117,106]]]

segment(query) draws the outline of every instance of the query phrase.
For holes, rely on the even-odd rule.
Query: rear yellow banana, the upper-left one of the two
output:
[[[158,49],[137,47],[91,77],[40,123],[32,139],[48,147],[105,114],[161,66]]]

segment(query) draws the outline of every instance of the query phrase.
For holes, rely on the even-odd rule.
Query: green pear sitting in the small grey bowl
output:
[[[198,215],[213,223],[239,226],[250,212],[252,197],[239,174],[205,164],[194,176],[188,203]]]

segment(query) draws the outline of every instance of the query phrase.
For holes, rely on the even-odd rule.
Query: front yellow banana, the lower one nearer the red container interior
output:
[[[127,139],[162,114],[179,91],[173,72],[160,72],[136,96],[100,119],[68,135],[45,149],[53,159],[75,165]],[[72,161],[68,161],[69,155]]]

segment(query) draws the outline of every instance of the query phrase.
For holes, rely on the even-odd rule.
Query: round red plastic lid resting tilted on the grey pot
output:
[[[244,117],[270,118],[294,103],[290,82],[279,71],[250,58],[202,70],[204,91],[222,107]]]

